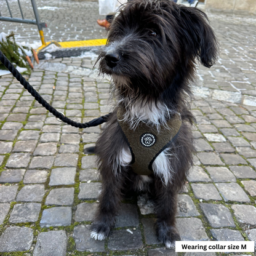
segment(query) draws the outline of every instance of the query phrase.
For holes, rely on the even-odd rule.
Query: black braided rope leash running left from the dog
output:
[[[99,126],[100,124],[103,124],[103,122],[106,122],[108,117],[111,113],[106,114],[105,116],[101,116],[100,118],[95,118],[90,122],[74,122],[73,120],[66,118],[64,114],[58,112],[55,110],[54,107],[52,107],[44,98],[41,97],[41,95],[33,88],[33,86],[30,85],[28,81],[26,81],[25,78],[23,78],[22,74],[18,72],[18,70],[10,63],[10,61],[6,58],[6,56],[1,52],[0,50],[0,61],[6,68],[14,75],[14,77],[22,84],[22,86],[30,92],[30,94],[38,101],[44,108],[49,110],[50,113],[54,114],[56,118],[62,120],[63,122],[66,122],[66,124],[70,124],[70,126],[78,127],[78,128],[88,128],[92,126]]]

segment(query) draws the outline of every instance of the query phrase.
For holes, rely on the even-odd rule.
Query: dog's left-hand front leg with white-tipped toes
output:
[[[122,199],[121,189],[124,182],[122,177],[123,170],[121,170],[119,174],[114,174],[110,172],[110,170],[106,170],[109,168],[109,166],[106,166],[102,169],[102,192],[99,197],[100,204],[91,227],[92,232],[90,236],[97,240],[103,240],[110,234],[111,228],[114,227],[116,222],[116,215],[118,215]]]

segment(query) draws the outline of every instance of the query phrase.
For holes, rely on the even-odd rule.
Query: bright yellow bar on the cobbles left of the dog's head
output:
[[[46,44],[42,45],[37,49],[37,53],[41,52],[44,47],[49,46],[49,44],[56,44],[60,49],[70,49],[70,48],[78,48],[78,47],[92,47],[92,46],[105,46],[106,39],[92,39],[92,40],[84,40],[84,41],[68,41],[68,42],[46,42]]]

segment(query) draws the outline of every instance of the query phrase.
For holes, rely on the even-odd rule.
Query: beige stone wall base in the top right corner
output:
[[[255,0],[206,0],[206,9],[249,12],[256,14]]]

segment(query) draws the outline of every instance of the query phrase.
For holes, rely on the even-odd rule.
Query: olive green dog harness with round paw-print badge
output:
[[[144,122],[140,122],[135,130],[130,129],[129,123],[123,121],[125,111],[124,108],[119,108],[118,123],[132,154],[130,166],[136,174],[151,175],[154,160],[178,137],[182,125],[180,114],[175,114],[167,121],[166,126],[161,125],[158,132],[155,127],[147,126]]]

